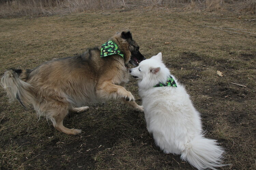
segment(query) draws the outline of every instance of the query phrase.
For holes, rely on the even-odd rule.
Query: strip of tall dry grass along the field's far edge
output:
[[[239,5],[238,5],[239,3]],[[242,4],[242,5],[241,5]],[[113,8],[186,7],[206,11],[232,8],[255,13],[255,0],[7,0],[0,2],[0,18],[49,16]]]

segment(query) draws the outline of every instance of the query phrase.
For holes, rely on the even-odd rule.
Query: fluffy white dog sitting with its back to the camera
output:
[[[197,169],[215,169],[221,164],[222,147],[203,137],[200,114],[185,88],[162,63],[159,53],[129,70],[139,80],[147,130],[165,153],[181,154]]]

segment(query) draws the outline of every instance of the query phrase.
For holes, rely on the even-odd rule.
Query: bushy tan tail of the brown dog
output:
[[[17,100],[23,107],[35,101],[33,87],[19,79],[20,74],[26,74],[23,70],[10,69],[4,72],[1,79],[2,87],[6,90],[10,102]]]

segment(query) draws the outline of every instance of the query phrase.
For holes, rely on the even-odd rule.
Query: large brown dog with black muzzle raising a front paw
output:
[[[124,87],[129,81],[126,64],[145,59],[130,31],[116,33],[109,40],[124,54],[101,56],[101,47],[88,49],[80,56],[53,59],[27,70],[6,70],[1,83],[10,101],[18,100],[24,107],[32,104],[39,116],[44,115],[60,132],[75,135],[81,130],[63,126],[69,112],[83,112],[88,106],[75,108],[72,104],[119,100],[137,111],[143,107]]]

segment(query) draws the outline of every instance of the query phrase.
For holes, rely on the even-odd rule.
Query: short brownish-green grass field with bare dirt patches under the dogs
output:
[[[253,170],[256,38],[246,32],[256,33],[254,18],[228,11],[142,8],[0,19],[0,75],[8,68],[31,69],[82,53],[130,29],[141,53],[149,58],[162,52],[173,75],[186,86],[206,136],[226,150],[224,163],[230,165],[221,169]],[[141,103],[132,78],[127,89]],[[43,117],[38,120],[33,109],[9,103],[0,88],[0,169],[193,169],[179,155],[164,154],[154,145],[143,113],[114,101],[88,106],[88,111],[64,120],[68,128],[83,131],[69,136]]]

